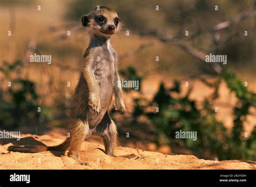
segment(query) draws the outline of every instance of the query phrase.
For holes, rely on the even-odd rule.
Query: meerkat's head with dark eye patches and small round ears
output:
[[[95,35],[110,37],[121,28],[117,12],[106,6],[93,9],[88,15],[82,17],[83,26]]]

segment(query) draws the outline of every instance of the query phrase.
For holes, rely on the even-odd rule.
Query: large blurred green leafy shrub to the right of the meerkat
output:
[[[136,71],[133,73],[135,75],[129,75],[129,77],[137,77]],[[234,125],[231,133],[221,121],[216,119],[212,106],[214,100],[218,98],[221,81],[224,81],[238,98],[233,109]],[[203,82],[206,83],[204,80]],[[200,107],[196,106],[196,100],[190,99],[192,88],[188,89],[185,96],[181,96],[180,82],[176,80],[173,85],[172,88],[166,88],[164,83],[160,83],[152,100],[145,102],[143,96],[134,99],[133,119],[131,119],[133,124],[134,121],[139,124],[139,117],[145,116],[149,120],[149,126],[154,128],[153,133],[156,137],[154,141],[158,146],[183,147],[201,157],[204,157],[205,153],[210,153],[211,157],[217,157],[219,160],[256,159],[256,127],[248,138],[243,135],[243,124],[246,116],[250,114],[250,107],[256,106],[256,95],[248,91],[237,76],[223,71],[218,75],[215,83],[207,84],[215,91],[210,97],[204,99]],[[179,96],[172,97],[174,92]],[[156,110],[149,112],[152,108]],[[197,140],[176,139],[176,132],[180,130],[197,132]]]

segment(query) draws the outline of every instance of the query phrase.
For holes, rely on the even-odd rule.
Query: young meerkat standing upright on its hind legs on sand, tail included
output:
[[[118,86],[117,53],[110,44],[110,38],[121,28],[117,12],[100,6],[82,17],[82,25],[90,33],[89,47],[83,56],[83,67],[72,98],[68,132],[70,137],[58,146],[20,147],[10,146],[9,151],[38,153],[48,150],[69,150],[68,156],[78,162],[79,149],[91,134],[103,138],[105,153],[114,156],[117,129],[109,116],[112,95],[115,109],[125,114],[122,88]]]

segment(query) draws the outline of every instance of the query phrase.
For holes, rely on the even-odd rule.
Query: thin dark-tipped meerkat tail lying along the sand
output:
[[[63,143],[57,146],[9,146],[8,150],[10,152],[20,152],[20,153],[40,153],[50,151],[64,151],[69,148],[69,139],[66,139]]]

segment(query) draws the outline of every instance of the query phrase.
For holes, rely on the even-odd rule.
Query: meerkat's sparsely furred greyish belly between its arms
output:
[[[87,121],[90,128],[95,127],[102,120],[112,100],[114,71],[111,62],[103,61],[103,63],[104,65],[98,64],[93,70],[99,86],[100,114],[97,115],[94,111],[89,110]]]

